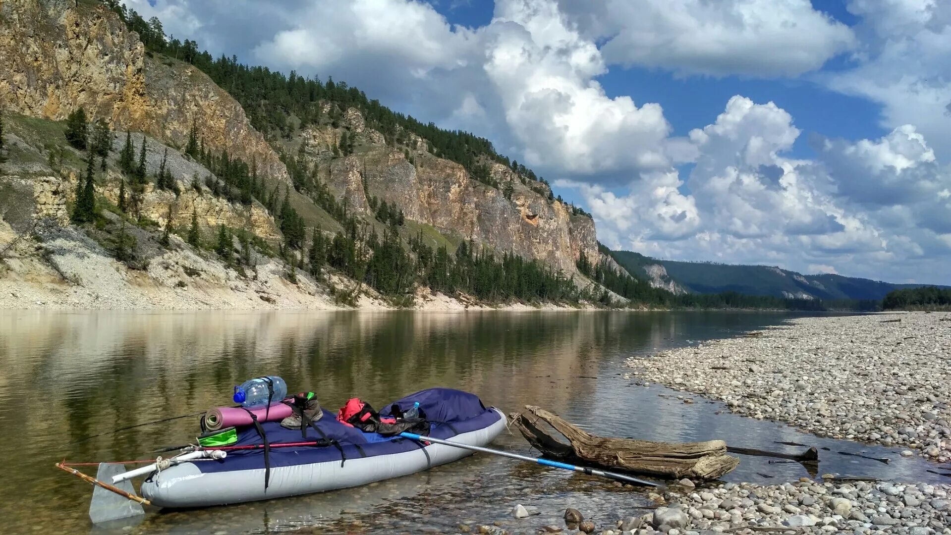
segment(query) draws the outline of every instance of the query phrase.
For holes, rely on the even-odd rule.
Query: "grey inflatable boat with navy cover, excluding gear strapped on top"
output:
[[[486,408],[472,393],[430,389],[410,394],[393,406],[419,409],[430,422],[429,435],[469,446],[486,446],[505,429],[502,411]],[[324,411],[314,426],[287,430],[277,422],[261,424],[268,444],[318,442],[336,445],[228,451],[220,460],[176,464],[152,473],[142,495],[160,507],[221,506],[357,487],[451,463],[473,451],[445,444],[426,444],[398,436],[366,433],[340,423]],[[322,440],[321,440],[322,439]],[[240,430],[235,446],[262,445],[255,428]],[[266,455],[266,466],[265,466]],[[265,473],[266,486],[265,486]]]

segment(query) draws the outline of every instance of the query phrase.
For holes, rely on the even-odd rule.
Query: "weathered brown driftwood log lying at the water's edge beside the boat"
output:
[[[513,424],[535,449],[558,461],[594,464],[665,478],[716,479],[740,460],[727,454],[722,440],[671,444],[628,438],[604,438],[580,430],[557,414],[532,405],[512,415]],[[558,431],[570,444],[542,430]]]

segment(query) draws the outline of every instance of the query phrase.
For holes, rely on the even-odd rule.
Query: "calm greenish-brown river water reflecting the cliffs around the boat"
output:
[[[609,436],[694,441],[797,452],[821,450],[819,473],[940,481],[895,449],[821,439],[742,418],[719,403],[685,404],[623,378],[631,355],[728,337],[782,322],[779,313],[636,312],[0,312],[0,529],[10,533],[455,532],[492,524],[533,532],[566,506],[599,526],[645,512],[638,489],[552,468],[475,455],[368,487],[200,510],[158,512],[93,527],[91,488],[53,467],[154,457],[150,449],[197,434],[197,417],[62,445],[109,430],[230,403],[248,377],[280,374],[335,410],[359,396],[382,407],[417,390],[476,392],[488,405],[526,404]],[[517,433],[495,447],[533,454]],[[889,464],[840,451],[888,457]],[[95,467],[87,473],[94,474]],[[815,477],[798,464],[743,456],[728,481],[774,484]],[[541,513],[515,521],[515,504]]]

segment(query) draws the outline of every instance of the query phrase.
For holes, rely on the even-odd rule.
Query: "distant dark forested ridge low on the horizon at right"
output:
[[[882,299],[893,290],[929,286],[896,284],[841,275],[803,275],[776,266],[686,262],[650,258],[632,251],[611,251],[611,256],[634,277],[646,278],[654,287],[674,292],[798,299]]]

